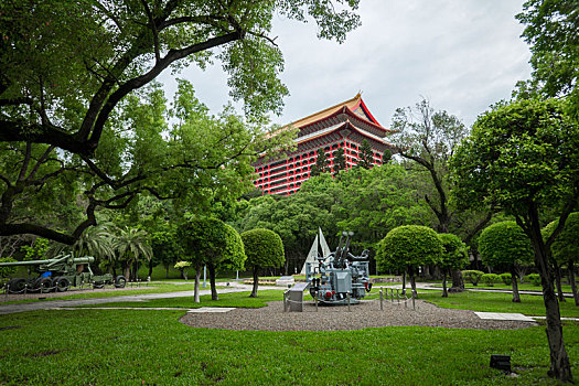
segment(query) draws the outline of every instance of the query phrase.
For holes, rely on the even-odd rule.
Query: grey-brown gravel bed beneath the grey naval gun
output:
[[[304,303],[303,312],[283,312],[281,301],[270,302],[261,309],[235,309],[226,313],[187,313],[181,322],[193,328],[246,331],[339,331],[361,330],[392,325],[423,325],[452,329],[524,329],[537,323],[482,320],[473,311],[438,308],[421,300],[406,308],[403,303],[384,302],[384,311],[377,300],[362,301],[352,305],[319,307]]]

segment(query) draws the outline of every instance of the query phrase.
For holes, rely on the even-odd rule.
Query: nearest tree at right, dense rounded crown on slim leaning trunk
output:
[[[579,196],[579,125],[565,100],[500,104],[480,116],[451,160],[459,205],[491,205],[515,216],[532,240],[547,313],[549,374],[571,380],[549,248]],[[543,240],[539,215],[556,208],[558,225]]]

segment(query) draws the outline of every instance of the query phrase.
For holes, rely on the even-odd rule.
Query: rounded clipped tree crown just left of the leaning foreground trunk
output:
[[[495,223],[483,229],[479,251],[482,262],[496,269],[528,265],[534,256],[530,240],[515,222]]]

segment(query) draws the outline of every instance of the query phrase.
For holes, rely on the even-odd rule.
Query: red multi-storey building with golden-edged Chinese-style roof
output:
[[[362,142],[367,140],[374,151],[374,164],[382,164],[389,148],[385,137],[392,130],[382,127],[372,116],[360,94],[289,125],[299,129],[297,150],[278,160],[259,159],[254,163],[259,175],[255,185],[266,194],[290,195],[310,178],[319,151],[325,151],[331,170],[337,148],[344,149],[346,168],[358,161]]]

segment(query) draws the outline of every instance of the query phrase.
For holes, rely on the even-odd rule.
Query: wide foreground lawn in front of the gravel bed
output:
[[[182,311],[37,311],[0,319],[0,384],[9,385],[529,385],[546,378],[543,328],[382,328],[239,332],[179,322]],[[579,371],[579,328],[566,343]],[[491,369],[512,355],[518,378]]]

